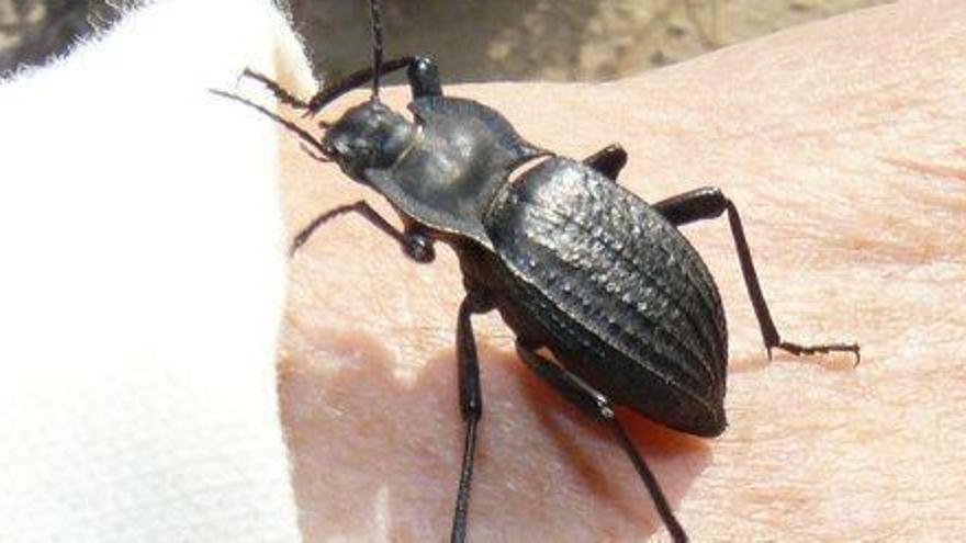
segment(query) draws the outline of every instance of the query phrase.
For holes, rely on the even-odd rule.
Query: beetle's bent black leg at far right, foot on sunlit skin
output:
[[[772,349],[776,348],[795,355],[852,352],[855,354],[855,363],[858,364],[861,354],[857,343],[802,346],[782,340],[778,329],[775,327],[775,321],[772,319],[772,313],[768,310],[768,304],[765,302],[765,295],[762,293],[761,283],[759,283],[759,275],[751,259],[751,249],[748,247],[744,228],[741,226],[741,215],[739,215],[734,204],[721,193],[720,189],[716,186],[696,189],[662,200],[654,204],[653,207],[674,226],[685,225],[704,218],[716,218],[726,211],[728,212],[728,223],[731,226],[731,237],[734,239],[734,248],[738,251],[741,274],[744,278],[744,285],[748,289],[748,295],[751,298],[755,318],[757,318],[762,337],[765,340],[768,359],[772,358]]]

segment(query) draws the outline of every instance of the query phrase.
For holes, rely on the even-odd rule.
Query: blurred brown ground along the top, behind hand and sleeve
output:
[[[43,64],[145,1],[0,0],[0,73]],[[891,1],[384,0],[383,10],[387,56],[431,55],[446,82],[600,81]],[[338,77],[369,61],[364,0],[288,3],[317,76]],[[231,22],[226,13],[223,24]]]

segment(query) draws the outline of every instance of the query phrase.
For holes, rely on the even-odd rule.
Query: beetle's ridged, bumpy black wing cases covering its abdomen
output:
[[[656,211],[589,167],[551,158],[505,188],[484,226],[508,271],[497,306],[518,335],[656,422],[724,430],[718,290]]]

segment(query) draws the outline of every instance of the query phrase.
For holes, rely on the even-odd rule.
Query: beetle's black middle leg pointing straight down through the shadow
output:
[[[476,340],[473,337],[473,314],[486,313],[493,304],[485,299],[467,295],[460,304],[457,319],[457,363],[459,365],[460,412],[467,421],[467,437],[463,441],[463,464],[460,470],[460,486],[453,511],[451,543],[462,543],[467,539],[467,512],[470,509],[470,483],[473,478],[473,452],[476,450],[476,423],[483,415],[483,393],[480,389],[480,362],[476,358]]]

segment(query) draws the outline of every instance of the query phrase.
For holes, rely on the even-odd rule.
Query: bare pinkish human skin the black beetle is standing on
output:
[[[683,228],[721,291],[729,428],[619,412],[695,541],[953,541],[966,531],[966,4],[908,2],[607,84],[447,87],[572,157],[620,142],[654,202],[717,185],[741,211],[784,339],[768,361],[727,220]],[[443,73],[443,78],[446,75]],[[406,89],[386,101],[402,108]],[[333,120],[353,95],[323,114]],[[284,136],[291,228],[375,193]],[[359,216],[292,261],[280,394],[306,541],[448,536],[464,431],[451,251],[406,260]],[[611,435],[474,319],[484,415],[472,541],[666,539]],[[647,391],[641,391],[647,394]]]

